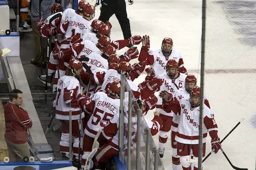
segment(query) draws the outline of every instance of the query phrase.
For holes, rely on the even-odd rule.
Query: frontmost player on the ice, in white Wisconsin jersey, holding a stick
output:
[[[190,96],[181,96],[173,98],[172,94],[164,92],[163,109],[169,112],[170,108],[175,114],[180,115],[179,126],[175,141],[177,142],[177,155],[180,156],[180,162],[184,170],[190,169],[190,152],[193,152],[194,158],[198,159],[199,150],[199,114],[200,114],[200,87],[196,86],[191,90]],[[189,98],[189,99],[188,99]],[[211,137],[212,152],[217,153],[221,148],[220,138],[218,137],[218,126],[214,119],[212,110],[204,104],[203,113],[203,157],[205,156],[207,132]],[[195,170],[198,164],[195,163]]]

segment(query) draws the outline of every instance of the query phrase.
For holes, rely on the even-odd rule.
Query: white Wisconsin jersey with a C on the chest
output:
[[[179,76],[177,79],[170,79],[168,75],[159,76],[158,78],[161,79],[163,82],[163,84],[160,86],[159,92],[165,90],[169,93],[174,94],[175,91],[185,90],[185,79],[186,79],[187,75],[182,74],[180,72],[178,72],[178,74],[179,74]],[[174,115],[173,111],[170,113],[167,113],[163,110],[163,108],[162,108],[163,100],[162,100],[162,98],[160,98],[159,95],[157,97],[157,100],[158,101],[157,101],[157,105],[156,105],[156,111],[159,112],[160,114],[173,117],[173,115]]]

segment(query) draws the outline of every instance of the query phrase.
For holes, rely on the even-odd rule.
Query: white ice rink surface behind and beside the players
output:
[[[256,129],[251,118],[255,116],[256,68],[255,34],[256,14],[252,1],[208,1],[205,48],[205,93],[219,126],[222,139],[243,117],[245,120],[222,143],[223,150],[233,165],[255,169]],[[200,85],[201,11],[199,0],[160,0],[127,4],[132,35],[150,35],[151,49],[161,47],[164,37],[171,37],[174,48],[183,56],[188,73],[195,74]],[[99,7],[95,18],[99,16]],[[123,39],[115,16],[111,39]],[[140,49],[141,45],[138,45]],[[126,49],[125,49],[126,50]],[[120,51],[118,53],[124,52]],[[140,83],[145,74],[136,80]],[[153,111],[146,115],[153,118]],[[158,145],[158,135],[154,136]],[[168,138],[162,162],[172,169],[172,150]],[[206,155],[210,152],[210,137]],[[233,169],[221,151],[211,155],[204,169]]]

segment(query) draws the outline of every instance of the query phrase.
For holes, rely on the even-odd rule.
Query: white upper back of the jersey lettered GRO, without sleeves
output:
[[[90,40],[83,40],[81,42],[81,44],[83,45],[83,48],[82,48],[81,52],[79,54],[77,54],[77,58],[88,57],[93,52],[97,53],[99,55],[102,54],[102,52],[99,50],[99,48],[96,46],[96,44]]]

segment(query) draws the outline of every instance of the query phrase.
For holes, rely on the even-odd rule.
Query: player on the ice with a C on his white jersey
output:
[[[177,90],[185,90],[185,78],[186,75],[182,74],[178,71],[178,63],[170,59],[166,64],[166,74],[164,76],[159,76],[163,82],[160,87],[161,91],[168,91],[170,93],[174,93]],[[164,154],[164,146],[168,138],[168,133],[170,131],[170,126],[172,125],[173,112],[166,113],[162,108],[162,98],[158,95],[158,101],[156,106],[156,111],[160,113],[160,117],[163,119],[163,127],[159,133],[159,155],[163,157]]]

